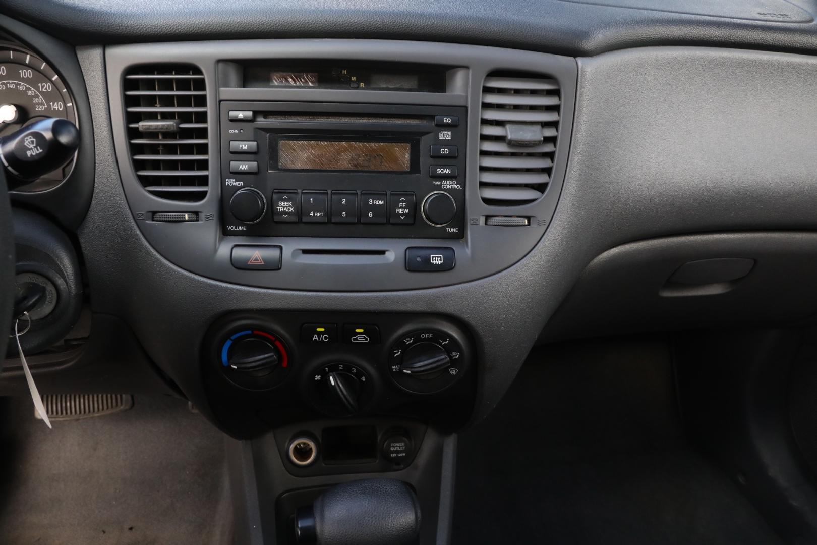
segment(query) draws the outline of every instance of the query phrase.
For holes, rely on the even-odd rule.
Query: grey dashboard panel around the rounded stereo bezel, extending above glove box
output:
[[[203,413],[210,414],[199,346],[209,324],[230,310],[453,315],[475,338],[475,414],[483,416],[587,264],[609,248],[714,230],[817,230],[817,59],[636,49],[579,60],[570,168],[559,207],[542,240],[516,265],[489,278],[414,291],[227,284],[174,266],[137,228],[112,144],[104,56],[89,48],[80,62],[96,141],[96,187],[78,233],[93,308],[125,318]]]

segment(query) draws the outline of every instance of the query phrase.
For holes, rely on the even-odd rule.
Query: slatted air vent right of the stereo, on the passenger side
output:
[[[551,180],[559,131],[559,83],[535,74],[489,74],[482,86],[480,196],[532,203]]]

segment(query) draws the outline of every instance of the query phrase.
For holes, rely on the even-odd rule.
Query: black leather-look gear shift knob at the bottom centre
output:
[[[297,543],[412,545],[420,535],[420,504],[395,479],[366,479],[334,486],[295,513]]]

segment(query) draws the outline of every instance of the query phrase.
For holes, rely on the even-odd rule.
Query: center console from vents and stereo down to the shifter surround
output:
[[[516,305],[527,314],[500,331],[497,299],[436,295],[504,274],[542,239],[575,60],[250,40],[114,46],[105,69],[127,209],[197,305],[182,334],[161,333],[196,346],[158,365],[239,439],[236,543],[305,543],[304,509],[384,477],[416,496],[419,543],[446,543],[456,432],[502,395],[529,348],[509,339],[537,310]]]

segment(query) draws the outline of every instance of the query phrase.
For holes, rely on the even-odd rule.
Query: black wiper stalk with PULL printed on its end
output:
[[[36,180],[67,163],[78,147],[79,130],[74,123],[47,118],[3,136],[0,159],[12,176]]]

